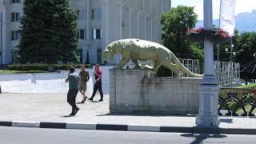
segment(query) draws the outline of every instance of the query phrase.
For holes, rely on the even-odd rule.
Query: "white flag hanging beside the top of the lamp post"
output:
[[[234,36],[234,6],[235,0],[221,0],[219,12],[219,25],[231,37]]]

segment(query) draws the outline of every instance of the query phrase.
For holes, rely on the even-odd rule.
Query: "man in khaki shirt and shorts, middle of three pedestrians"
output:
[[[86,83],[89,81],[90,79],[90,75],[89,72],[86,70],[86,65],[81,65],[81,71],[79,72],[79,76],[80,76],[80,83],[79,83],[79,92],[82,94],[82,102],[80,103],[84,103],[86,102]]]

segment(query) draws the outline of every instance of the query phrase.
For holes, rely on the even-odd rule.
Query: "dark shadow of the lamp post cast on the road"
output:
[[[222,134],[181,134],[181,136],[195,138],[194,142],[191,142],[190,144],[202,143],[202,141],[206,140],[207,138],[226,138],[226,135]]]

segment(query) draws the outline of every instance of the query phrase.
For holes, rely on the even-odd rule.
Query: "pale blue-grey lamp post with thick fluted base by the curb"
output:
[[[213,10],[212,0],[203,1],[204,28],[213,29]],[[218,126],[218,79],[214,77],[214,43],[205,38],[205,75],[200,85],[200,100],[198,117],[196,124],[198,126]]]

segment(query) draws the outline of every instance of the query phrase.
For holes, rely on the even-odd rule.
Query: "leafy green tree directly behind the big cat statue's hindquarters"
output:
[[[203,63],[203,47],[198,43],[191,43],[186,38],[189,28],[194,28],[198,15],[194,7],[177,6],[161,16],[162,44],[171,50],[178,58],[199,59]],[[158,76],[170,76],[170,71],[164,67],[158,70]]]

